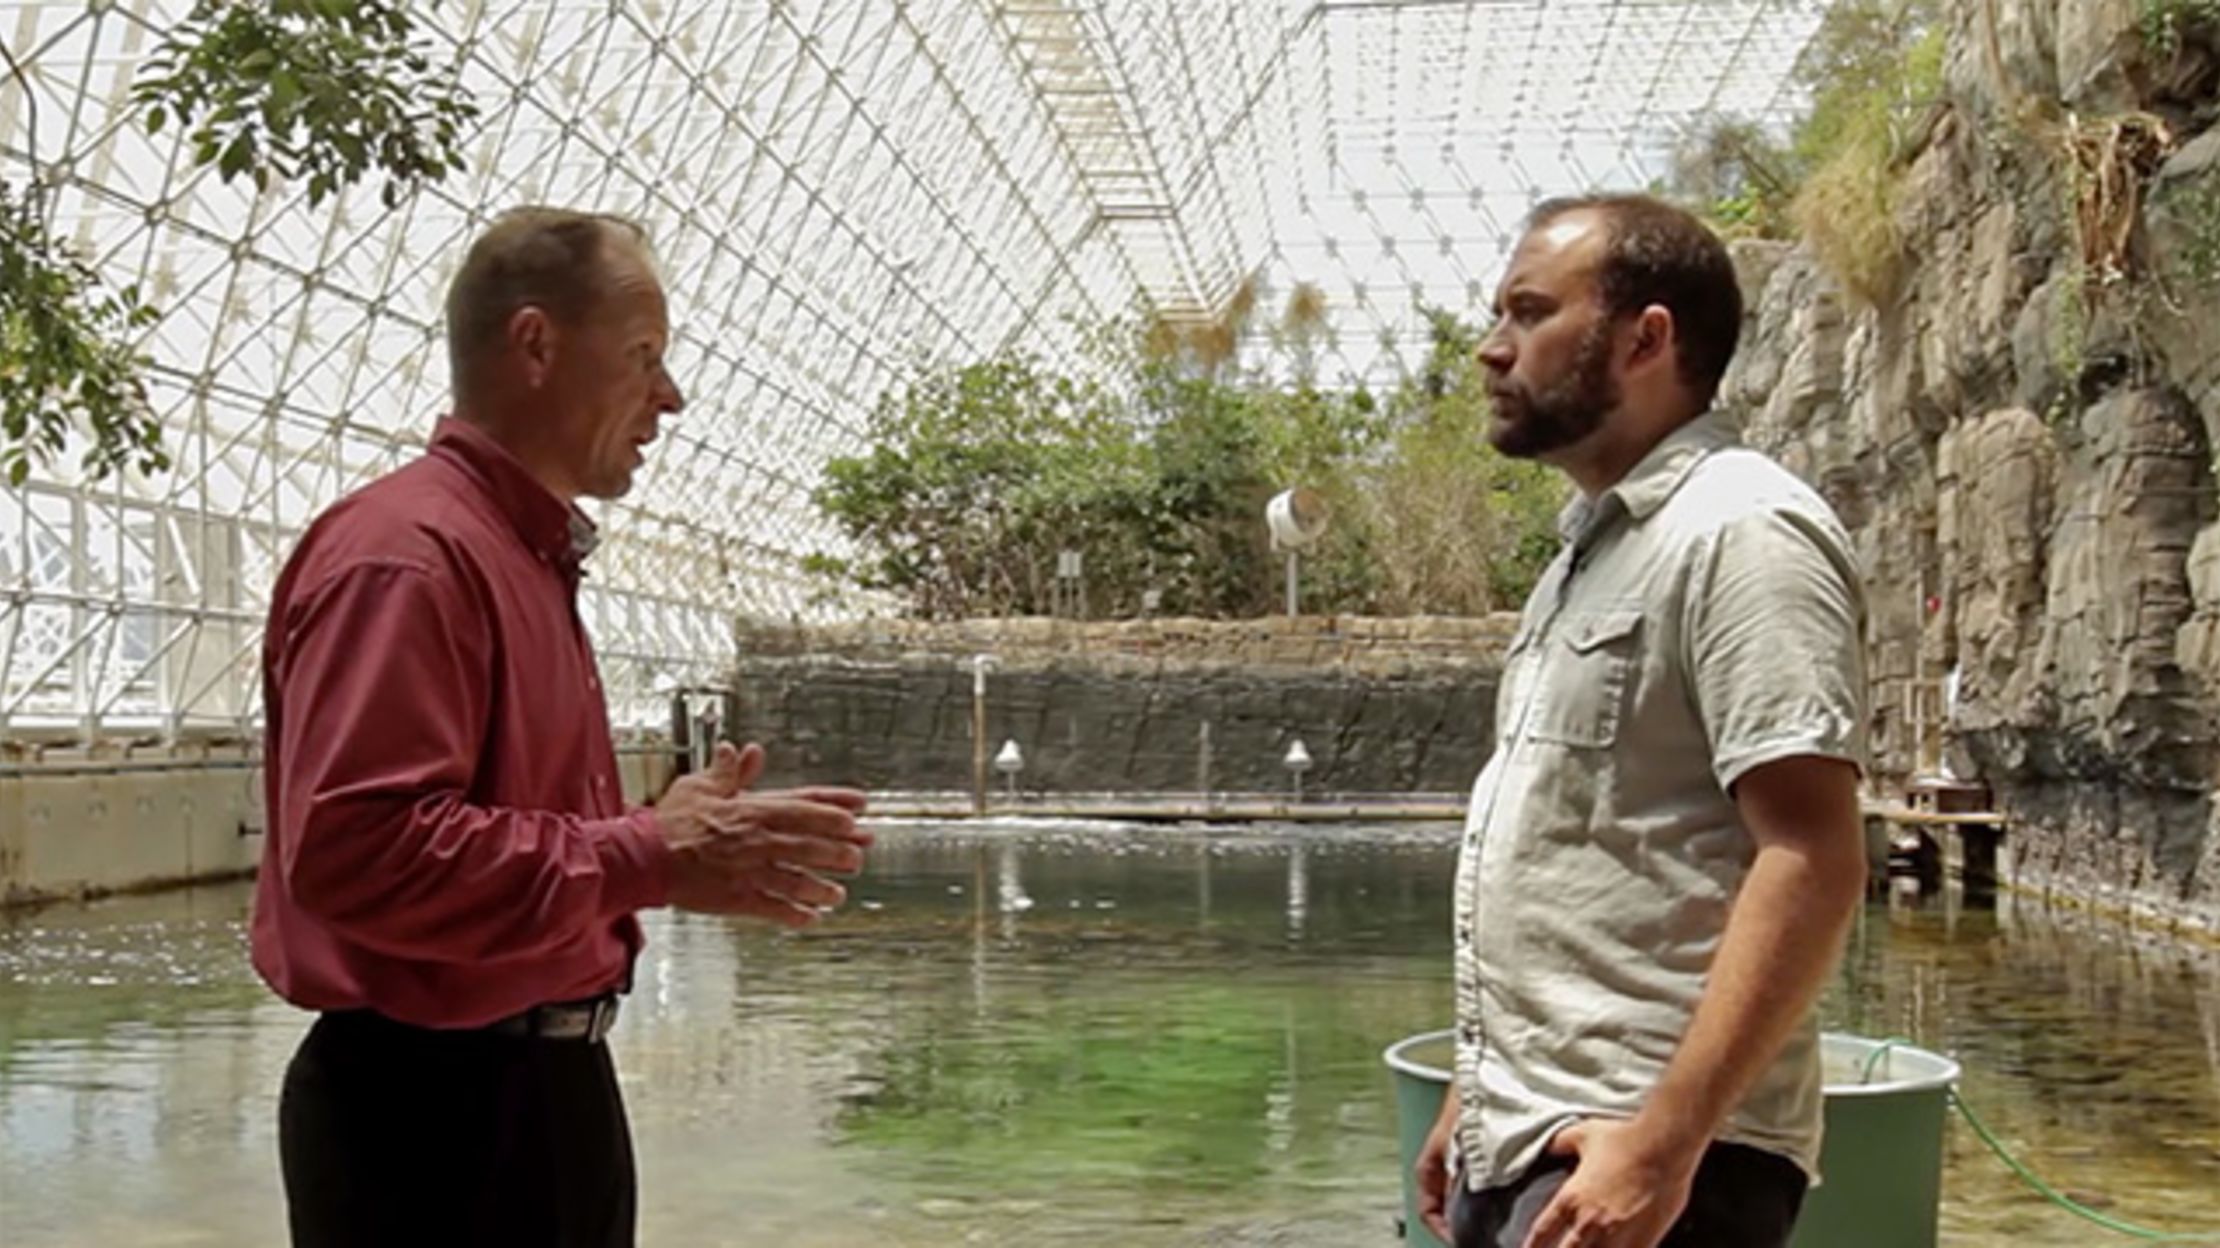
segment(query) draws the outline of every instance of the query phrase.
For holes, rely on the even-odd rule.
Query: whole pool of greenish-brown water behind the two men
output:
[[[1447,828],[895,826],[817,930],[655,915],[615,1037],[642,1241],[1390,1244],[1379,1053],[1447,1021],[1452,862]],[[0,917],[0,1244],[282,1241],[306,1019],[246,904]],[[1956,1053],[2069,1192],[2220,1226],[2220,955],[1876,904],[1825,1010]],[[2102,1241],[1962,1128],[1947,1166],[1945,1244]]]

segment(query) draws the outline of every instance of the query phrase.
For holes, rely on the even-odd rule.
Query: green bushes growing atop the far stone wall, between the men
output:
[[[1041,615],[1070,548],[1092,615],[1139,615],[1150,591],[1161,613],[1263,615],[1281,606],[1263,506],[1301,484],[1334,513],[1303,553],[1308,611],[1516,606],[1554,553],[1561,491],[1487,446],[1476,331],[1430,324],[1427,366],[1385,397],[1152,351],[1150,331],[1099,382],[1019,355],[921,369],[815,495],[859,555],[810,566],[924,617]]]

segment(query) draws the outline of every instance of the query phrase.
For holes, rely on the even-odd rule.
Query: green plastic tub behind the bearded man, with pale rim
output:
[[[1450,1086],[1452,1033],[1414,1035],[1388,1048],[1396,1135],[1403,1146],[1403,1241],[1443,1248],[1419,1224],[1412,1166]],[[1958,1064],[1856,1035],[1823,1035],[1825,1181],[1805,1197],[1792,1248],[1934,1248],[1943,1206],[1943,1119]]]

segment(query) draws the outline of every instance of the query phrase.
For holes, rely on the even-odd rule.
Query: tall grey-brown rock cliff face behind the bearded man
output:
[[[1987,779],[2020,884],[2220,930],[2220,58],[2136,2],[1956,9],[1896,298],[1738,244],[1723,400],[1858,537],[1878,771]],[[2098,178],[2140,200],[2085,302]]]

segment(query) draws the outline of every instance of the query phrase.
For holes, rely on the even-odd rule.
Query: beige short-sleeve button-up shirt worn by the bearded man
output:
[[[1561,520],[1503,668],[1456,868],[1456,1146],[1474,1188],[1629,1117],[1687,1033],[1754,857],[1729,791],[1865,762],[1865,602],[1834,511],[1718,417]],[[1818,1172],[1805,1019],[1721,1139]]]

